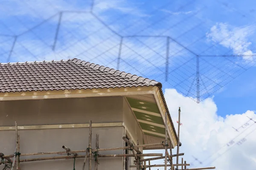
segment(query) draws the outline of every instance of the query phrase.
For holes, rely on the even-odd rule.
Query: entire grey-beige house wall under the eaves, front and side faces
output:
[[[103,122],[125,122],[134,138],[142,144],[140,130],[130,121],[134,121],[123,97],[96,97],[77,99],[45,99],[0,102],[0,126],[17,125],[54,125]],[[136,122],[135,122],[136,123]],[[64,151],[65,145],[71,150],[87,148],[89,128],[18,130],[20,135],[20,153]],[[93,127],[92,147],[95,148],[96,133],[99,134],[99,147],[122,147],[125,135],[124,127]],[[15,150],[15,130],[0,130],[0,152],[13,154]],[[123,154],[123,150],[100,152],[100,154]],[[79,153],[84,155],[85,153]],[[52,157],[22,156],[20,159]],[[82,167],[84,159],[76,159],[76,169]],[[21,169],[34,170],[71,170],[74,159],[21,162]],[[99,170],[122,170],[123,158],[100,158]],[[3,165],[0,165],[0,169]],[[86,168],[88,169],[88,160]],[[94,161],[92,169],[94,169]]]

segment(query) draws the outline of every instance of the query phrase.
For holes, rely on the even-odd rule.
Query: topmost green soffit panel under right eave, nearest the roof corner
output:
[[[154,112],[154,113],[160,114],[160,111],[159,111],[156,103],[146,102],[144,100],[132,99],[132,98],[128,98],[128,97],[126,97],[126,99],[128,100],[128,102],[132,108],[137,108],[137,109],[140,109],[143,111],[149,111],[149,112]]]

